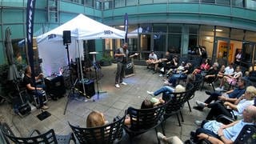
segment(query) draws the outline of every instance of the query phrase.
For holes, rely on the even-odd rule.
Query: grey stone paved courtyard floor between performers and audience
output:
[[[135,66],[135,75],[124,80],[124,82],[128,83],[128,86],[122,86],[120,89],[117,89],[114,87],[115,69],[116,64],[102,67],[102,74],[104,76],[99,80],[98,86],[100,91],[106,91],[107,93],[99,94],[99,99],[97,99],[97,95],[94,96],[96,102],[91,102],[91,100],[88,102],[71,100],[68,103],[66,114],[64,115],[67,97],[60,98],[58,101],[50,101],[48,102],[50,108],[47,111],[50,112],[51,116],[43,121],[40,121],[36,117],[40,113],[39,110],[34,110],[34,112],[25,118],[21,118],[17,114],[14,114],[10,104],[5,102],[0,105],[0,120],[7,122],[16,135],[26,136],[34,129],[38,129],[41,132],[54,129],[57,134],[68,134],[71,132],[71,129],[67,122],[74,125],[86,126],[86,117],[91,110],[103,112],[106,119],[111,122],[115,116],[122,116],[129,106],[140,107],[143,99],[150,97],[146,94],[146,90],[154,91],[163,86],[163,78],[158,77],[158,74],[152,74],[152,71],[146,70],[145,66]],[[210,89],[210,86],[206,86],[206,88]],[[195,98],[190,100],[191,106],[195,105],[196,100],[203,101],[206,99],[204,91],[196,92]],[[167,120],[167,137],[177,135],[182,141],[190,138],[190,131],[197,128],[194,121],[205,118],[207,110],[200,112],[192,109],[192,112],[190,112],[187,104],[185,104],[182,114],[184,116],[182,126],[178,126],[178,120],[175,116]],[[161,129],[159,128],[158,130]],[[150,144],[157,143],[157,139],[154,130],[151,130],[134,138],[133,142]],[[122,143],[130,143],[128,135],[123,138]]]

